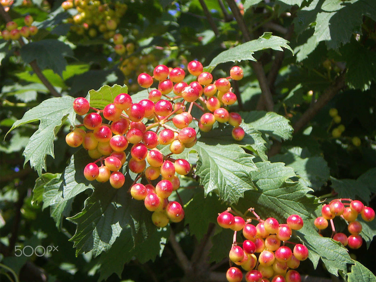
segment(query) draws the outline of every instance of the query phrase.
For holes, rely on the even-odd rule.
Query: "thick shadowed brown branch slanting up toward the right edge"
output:
[[[317,114],[317,112],[338,93],[338,91],[345,87],[345,85],[345,75],[342,73],[337,77],[334,84],[326,89],[326,91],[317,99],[317,102],[309,106],[302,117],[300,117],[300,119],[293,125],[294,134],[299,132],[299,130],[302,129],[315,116],[315,114]]]

